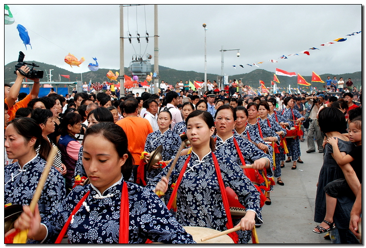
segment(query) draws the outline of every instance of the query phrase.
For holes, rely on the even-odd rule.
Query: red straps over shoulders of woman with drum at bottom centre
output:
[[[233,225],[232,225],[232,219],[231,219],[231,214],[230,214],[229,200],[227,199],[224,181],[222,180],[222,177],[221,177],[221,171],[220,171],[219,163],[216,159],[215,154],[213,152],[211,152],[211,154],[212,154],[212,158],[214,160],[216,175],[217,175],[217,179],[218,179],[219,187],[220,187],[220,191],[221,191],[222,202],[224,204],[224,209],[225,209],[225,212],[226,212],[226,217],[227,217],[226,227],[227,227],[227,229],[230,229],[230,228],[233,228]],[[168,209],[170,209],[171,206],[172,206],[173,199],[175,198],[175,195],[177,194],[179,184],[180,184],[181,179],[182,179],[182,177],[183,177],[183,175],[184,175],[184,173],[187,169],[190,158],[191,158],[191,154],[188,156],[182,170],[179,173],[177,182],[175,183],[174,190],[172,192],[172,195],[171,195],[171,197],[169,199],[169,202],[168,202],[168,205],[167,205]],[[239,237],[238,237],[238,234],[236,232],[229,233],[228,235],[234,241],[234,243],[238,243]]]

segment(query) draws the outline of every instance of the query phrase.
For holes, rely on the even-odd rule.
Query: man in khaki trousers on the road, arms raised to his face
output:
[[[307,102],[309,103],[310,107],[310,123],[309,123],[309,129],[308,129],[308,135],[307,135],[307,148],[308,150],[306,153],[315,152],[315,144],[314,144],[314,134],[315,139],[318,144],[318,150],[319,153],[323,153],[323,135],[320,131],[319,125],[318,125],[318,118],[317,114],[319,111],[319,108],[321,106],[324,106],[324,94],[319,94],[318,96],[308,96],[305,98]]]

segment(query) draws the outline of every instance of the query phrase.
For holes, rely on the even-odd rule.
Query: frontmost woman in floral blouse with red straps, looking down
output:
[[[90,184],[72,189],[65,201],[47,217],[29,207],[15,228],[29,229],[36,240],[55,240],[65,225],[70,243],[194,243],[164,203],[147,188],[125,182],[132,173],[133,157],[127,136],[112,122],[87,129],[83,141],[83,164]],[[64,233],[59,235],[62,238]]]

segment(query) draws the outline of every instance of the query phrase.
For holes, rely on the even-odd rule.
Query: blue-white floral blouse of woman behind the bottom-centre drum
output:
[[[262,223],[259,211],[259,192],[244,175],[243,169],[228,156],[216,154],[225,187],[232,188],[246,211],[254,211],[256,220]],[[175,183],[189,155],[180,156],[169,178],[169,185]],[[146,187],[154,188],[165,176],[171,163]],[[182,177],[177,196],[176,219],[182,226],[207,227],[218,231],[227,230],[227,217],[222,202],[212,153],[202,160],[192,151],[187,170]]]

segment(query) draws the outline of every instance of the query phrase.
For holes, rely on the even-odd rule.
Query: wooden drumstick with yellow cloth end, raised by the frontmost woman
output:
[[[41,178],[39,179],[38,184],[37,184],[36,191],[34,192],[33,199],[31,201],[31,204],[29,205],[29,208],[31,209],[32,213],[34,212],[37,202],[38,202],[39,198],[41,197],[44,183],[46,182],[46,179],[48,177],[49,170],[51,169],[52,163],[54,161],[56,151],[57,151],[57,148],[52,147],[51,151],[48,154],[46,167],[44,168],[44,170],[42,172]],[[26,243],[27,236],[28,236],[28,229],[22,230],[14,237],[13,243]]]

